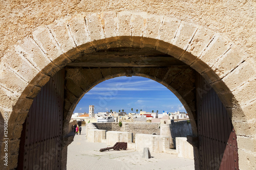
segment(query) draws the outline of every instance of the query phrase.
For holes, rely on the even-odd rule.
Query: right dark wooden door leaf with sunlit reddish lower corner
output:
[[[196,88],[206,90],[202,77],[197,76],[196,81]],[[213,89],[202,98],[197,95],[197,114],[200,168],[238,169],[236,135],[226,108]]]

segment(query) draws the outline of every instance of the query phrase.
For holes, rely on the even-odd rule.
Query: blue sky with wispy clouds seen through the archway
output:
[[[88,113],[89,105],[94,105],[95,113],[111,109],[131,113],[131,108],[134,113],[136,109],[158,113],[185,111],[179,99],[162,84],[138,76],[116,77],[97,84],[82,97],[74,112]]]

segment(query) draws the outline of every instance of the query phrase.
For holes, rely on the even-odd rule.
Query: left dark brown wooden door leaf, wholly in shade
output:
[[[19,169],[59,169],[65,71],[34,98],[20,138]]]

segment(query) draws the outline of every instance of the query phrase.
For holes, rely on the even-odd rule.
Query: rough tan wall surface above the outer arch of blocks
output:
[[[36,27],[49,25],[57,18],[77,13],[103,11],[143,11],[152,14],[172,16],[192,22],[225,34],[242,51],[255,54],[253,39],[255,22],[255,1],[53,1],[44,3],[34,0],[14,3],[4,1],[1,9],[2,29],[0,36],[1,54],[8,47],[17,44]],[[44,10],[42,10],[44,9]],[[234,19],[236,18],[236,19]],[[8,28],[8,29],[7,29]],[[1,58],[1,56],[0,56]]]

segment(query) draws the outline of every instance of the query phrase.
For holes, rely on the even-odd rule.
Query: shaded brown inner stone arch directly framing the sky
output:
[[[186,66],[168,68],[66,68],[64,136],[68,134],[69,121],[81,97],[98,83],[119,76],[142,76],[163,84],[180,99],[188,113],[193,135],[197,136],[195,71]]]

